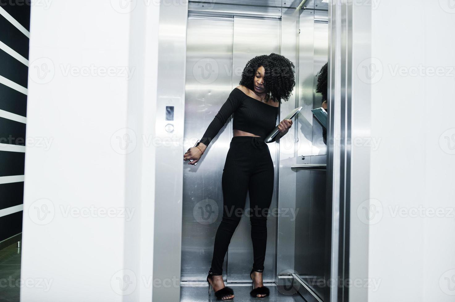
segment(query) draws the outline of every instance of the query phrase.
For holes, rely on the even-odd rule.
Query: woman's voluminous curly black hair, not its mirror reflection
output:
[[[253,90],[254,75],[261,66],[265,70],[264,87],[266,92],[279,103],[282,99],[288,101],[295,87],[295,66],[280,54],[262,54],[250,59],[243,69],[239,85]]]

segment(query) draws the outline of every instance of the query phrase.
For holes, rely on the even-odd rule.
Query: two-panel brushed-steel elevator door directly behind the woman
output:
[[[248,60],[272,52],[280,53],[278,19],[189,15],[185,149],[202,137],[229,93],[238,86]],[[215,233],[222,219],[221,177],[232,136],[230,118],[196,166],[184,162],[182,281],[203,281],[207,277]],[[268,147],[274,159],[276,182],[277,143]],[[245,207],[248,206],[249,196]],[[277,194],[273,193],[270,208],[277,206]],[[265,282],[276,278],[276,228],[277,218],[269,216]],[[250,231],[249,218],[244,214],[224,261],[223,273],[228,282],[250,281],[248,273],[253,265]]]

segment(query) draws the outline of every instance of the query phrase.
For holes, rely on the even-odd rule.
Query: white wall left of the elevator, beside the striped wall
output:
[[[21,301],[151,300],[159,10],[117,2],[32,3]]]

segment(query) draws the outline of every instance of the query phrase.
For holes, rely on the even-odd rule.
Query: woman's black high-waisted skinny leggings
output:
[[[211,271],[222,274],[222,264],[232,235],[240,222],[247,192],[250,208],[253,268],[263,271],[267,245],[267,214],[273,194],[272,157],[264,138],[234,136],[227,151],[222,174],[223,218],[213,248]]]

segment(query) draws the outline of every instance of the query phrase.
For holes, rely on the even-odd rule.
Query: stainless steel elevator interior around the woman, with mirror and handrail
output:
[[[249,59],[273,52],[296,66],[296,87],[289,101],[280,105],[277,124],[292,109],[302,106],[303,110],[279,144],[268,144],[275,184],[263,281],[274,301],[329,301],[327,147],[322,126],[311,112],[322,104],[315,90],[317,74],[329,58],[328,10],[324,0],[188,3],[186,149],[200,139],[238,85]],[[229,119],[198,165],[183,169],[181,301],[207,301],[205,280],[222,216],[221,176],[232,137]],[[244,215],[225,258],[225,282],[251,286],[252,259],[249,219]],[[238,295],[235,300],[249,301],[249,287],[235,288],[247,293],[242,295],[247,300]]]

